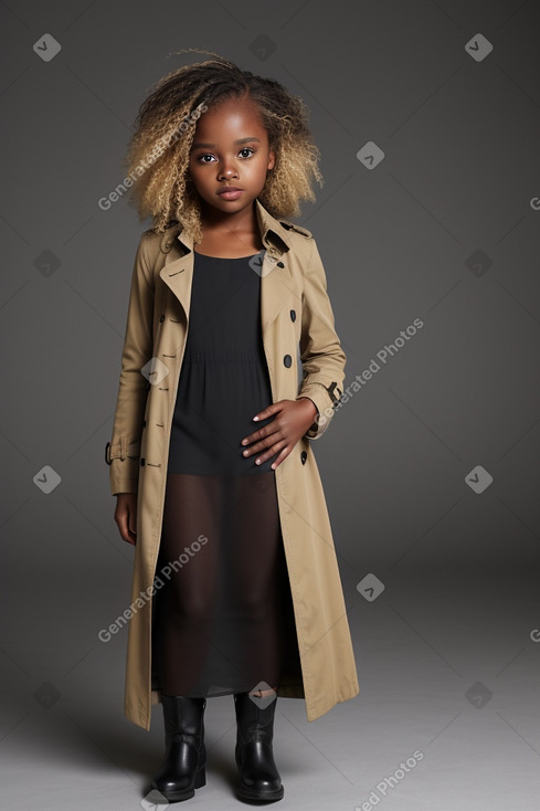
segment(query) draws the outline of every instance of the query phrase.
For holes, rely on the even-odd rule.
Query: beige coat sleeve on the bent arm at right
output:
[[[297,400],[309,398],[317,409],[315,422],[304,434],[318,440],[327,430],[343,391],[347,356],[333,328],[325,268],[315,239],[304,274],[300,359],[304,379]]]

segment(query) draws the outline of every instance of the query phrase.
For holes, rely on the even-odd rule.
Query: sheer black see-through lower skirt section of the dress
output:
[[[153,624],[166,695],[276,688],[287,677],[295,629],[276,498],[274,472],[168,474]]]

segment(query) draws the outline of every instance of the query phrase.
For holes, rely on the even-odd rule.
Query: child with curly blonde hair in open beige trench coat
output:
[[[106,460],[135,546],[125,714],[149,729],[162,703],[151,787],[171,802],[205,784],[209,696],[234,695],[239,798],[274,801],[277,696],[314,720],[359,692],[310,446],[346,356],[315,240],[282,219],[315,199],[317,161],[301,99],[221,57],[165,76],[130,143],[153,228]]]

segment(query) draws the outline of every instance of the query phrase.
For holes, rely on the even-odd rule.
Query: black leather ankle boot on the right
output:
[[[261,699],[247,693],[234,694],[237,724],[235,758],[240,772],[237,796],[241,800],[273,801],[280,800],[284,794],[272,748],[277,696],[268,706],[264,706],[265,698],[268,697]]]

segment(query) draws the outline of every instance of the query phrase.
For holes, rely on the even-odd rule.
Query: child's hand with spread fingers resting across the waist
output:
[[[262,464],[280,451],[272,464],[273,470],[275,470],[287,459],[298,440],[304,436],[315,421],[317,413],[317,407],[307,397],[301,397],[298,400],[278,400],[272,403],[255,417],[260,420],[264,420],[272,414],[276,414],[276,417],[264,428],[244,436],[243,445],[254,444],[251,444],[251,447],[247,447],[243,455],[247,459],[256,453],[258,455],[255,463]],[[265,451],[265,449],[267,450]],[[265,452],[262,453],[262,451]]]

